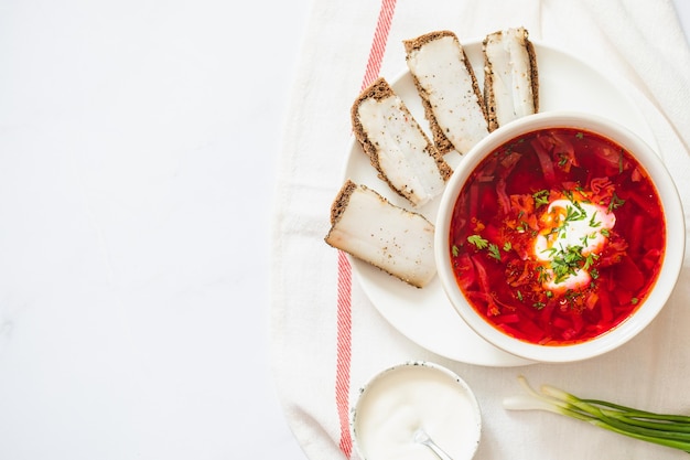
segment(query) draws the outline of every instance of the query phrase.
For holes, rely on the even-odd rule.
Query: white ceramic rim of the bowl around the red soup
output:
[[[658,279],[647,299],[622,323],[606,333],[581,343],[540,345],[515,339],[482,318],[464,297],[451,268],[449,229],[453,208],[472,171],[493,150],[521,135],[553,127],[592,131],[613,140],[632,153],[647,170],[660,197],[666,216],[666,250]],[[435,229],[435,259],[439,277],[450,301],[464,321],[482,338],[499,349],[536,362],[571,362],[608,352],[644,330],[667,302],[679,276],[684,252],[684,218],[668,171],[658,154],[637,135],[618,124],[593,115],[553,111],[528,116],[492,132],[462,159],[441,200]],[[502,282],[502,280],[492,280]],[[503,281],[505,282],[505,281]]]

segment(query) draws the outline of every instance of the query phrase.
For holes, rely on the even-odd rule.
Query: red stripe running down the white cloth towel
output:
[[[367,68],[362,82],[366,88],[378,77],[386,52],[388,32],[392,22],[396,0],[382,0],[374,32]],[[352,357],[352,266],[347,256],[338,252],[337,258],[337,363],[335,373],[335,404],[341,422],[341,451],[347,459],[353,451],[349,434],[349,370]]]

